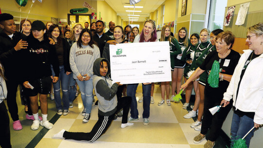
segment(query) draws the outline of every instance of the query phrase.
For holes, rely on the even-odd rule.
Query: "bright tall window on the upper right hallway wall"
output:
[[[207,11],[208,23],[206,28],[210,31],[223,29],[226,5],[227,0],[207,0],[207,9],[209,9],[209,11]]]

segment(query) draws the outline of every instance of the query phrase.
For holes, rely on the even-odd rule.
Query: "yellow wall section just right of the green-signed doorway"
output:
[[[106,24],[109,24],[111,20],[117,21],[117,13],[105,1],[97,1],[97,17],[99,17],[99,12],[101,13],[102,21],[106,21]]]

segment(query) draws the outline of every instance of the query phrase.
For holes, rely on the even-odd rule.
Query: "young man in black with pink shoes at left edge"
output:
[[[17,90],[21,83],[20,50],[27,48],[26,36],[16,31],[16,24],[10,14],[0,14],[0,61],[5,69],[7,87],[7,106],[13,119],[14,130],[22,129],[19,121]]]

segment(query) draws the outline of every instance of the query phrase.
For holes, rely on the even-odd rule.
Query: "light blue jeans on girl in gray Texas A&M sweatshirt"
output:
[[[88,81],[79,81],[76,79],[77,85],[81,92],[81,99],[86,113],[91,113],[92,110],[92,101],[93,101],[93,83],[92,79]]]

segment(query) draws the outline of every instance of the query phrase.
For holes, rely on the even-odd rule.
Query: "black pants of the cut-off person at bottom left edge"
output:
[[[12,148],[10,142],[9,116],[4,102],[0,103],[0,146]]]

